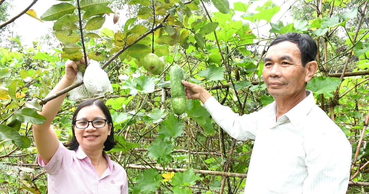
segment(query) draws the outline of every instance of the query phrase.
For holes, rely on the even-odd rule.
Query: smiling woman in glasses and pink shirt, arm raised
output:
[[[65,62],[65,75],[49,96],[72,85],[80,63],[84,60]],[[47,102],[39,112],[46,122],[33,125],[38,162],[48,173],[48,193],[127,194],[127,173],[103,152],[117,143],[108,108],[94,99],[82,102],[73,115],[73,138],[65,145],[67,149],[51,126],[65,96]]]

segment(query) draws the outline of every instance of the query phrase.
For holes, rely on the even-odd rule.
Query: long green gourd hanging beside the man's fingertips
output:
[[[176,115],[182,115],[186,112],[186,93],[184,93],[184,85],[182,80],[184,79],[184,73],[179,65],[173,65],[170,68],[170,86],[172,96],[172,109]]]

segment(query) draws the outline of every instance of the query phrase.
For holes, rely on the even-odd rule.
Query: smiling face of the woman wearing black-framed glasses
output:
[[[103,111],[96,105],[85,106],[78,112],[76,120],[93,121],[96,119],[107,119]],[[86,122],[85,122],[86,123]],[[88,122],[85,129],[73,127],[77,142],[82,147],[83,151],[102,150],[104,142],[110,134],[111,125],[105,123],[104,127],[96,128],[92,122]]]

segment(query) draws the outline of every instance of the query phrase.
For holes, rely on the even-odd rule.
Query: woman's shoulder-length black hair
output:
[[[74,127],[74,121],[76,120],[76,117],[78,115],[78,112],[82,109],[85,108],[86,106],[92,106],[95,105],[97,107],[99,107],[104,115],[106,116],[106,119],[108,120],[107,123],[108,125],[111,125],[111,129],[110,129],[110,134],[108,135],[106,141],[104,142],[104,151],[109,151],[111,150],[115,144],[117,144],[117,142],[114,140],[114,126],[113,126],[113,120],[111,118],[111,114],[109,112],[109,109],[107,108],[107,106],[105,105],[105,103],[103,101],[100,100],[96,100],[96,99],[86,99],[85,101],[83,101],[82,103],[80,103],[80,105],[77,107],[76,111],[74,112],[73,115],[73,119],[72,119],[72,132],[73,132],[73,137],[72,140],[70,140],[69,143],[64,144],[65,147],[68,147],[69,150],[77,150],[79,147],[79,143],[77,142],[76,139],[76,135],[75,132],[73,130]]]

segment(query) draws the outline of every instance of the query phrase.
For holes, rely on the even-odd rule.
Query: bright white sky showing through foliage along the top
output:
[[[233,8],[233,3],[238,2],[240,0],[228,0],[230,3],[230,7]],[[45,13],[48,8],[50,8],[54,4],[61,3],[62,1],[57,0],[38,0],[37,3],[35,3],[31,9],[34,9],[37,17],[39,18],[42,14]],[[285,10],[288,9],[290,4],[283,3],[284,0],[273,0],[274,3],[281,6],[280,14],[283,14]],[[15,5],[13,11],[10,13],[10,17],[14,17],[21,11],[23,11],[28,5],[32,3],[32,0],[22,0],[22,3],[18,3]],[[253,6],[254,8],[258,5],[263,4],[264,1],[256,1]],[[251,6],[248,10],[254,10],[254,8]],[[211,10],[217,11],[214,7],[210,8]],[[113,14],[110,15],[110,18],[106,19],[106,22],[104,23],[103,27],[108,27],[109,29],[114,29],[112,18]],[[121,20],[124,20],[124,18],[121,18]],[[279,20],[279,17],[273,17],[275,20]],[[15,31],[18,35],[22,37],[22,43],[23,45],[32,46],[32,41],[39,39],[42,35],[45,35],[48,33],[49,29],[52,28],[54,25],[54,21],[44,21],[43,23],[41,21],[38,21],[27,14],[23,14],[21,17],[19,17],[17,20],[15,20]],[[35,30],[37,29],[37,30]]]

